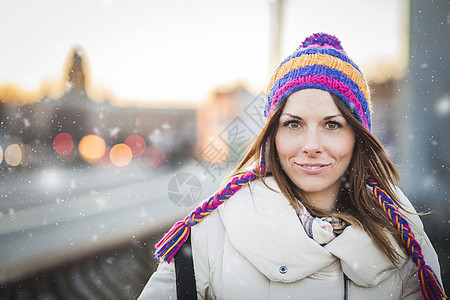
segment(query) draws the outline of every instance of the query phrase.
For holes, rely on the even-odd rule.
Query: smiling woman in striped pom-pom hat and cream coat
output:
[[[190,233],[200,299],[446,297],[370,132],[366,80],[336,37],[314,34],[281,63],[264,115],[230,183],[156,245],[162,261],[141,298],[176,298],[171,260]]]

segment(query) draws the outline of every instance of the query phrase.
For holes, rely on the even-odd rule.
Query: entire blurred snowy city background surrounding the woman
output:
[[[0,299],[135,299],[321,31],[369,80],[448,288],[450,1],[0,0]]]

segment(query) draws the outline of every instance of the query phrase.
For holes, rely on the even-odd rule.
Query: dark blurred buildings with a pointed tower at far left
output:
[[[151,166],[176,163],[194,155],[195,109],[117,107],[111,105],[109,99],[94,101],[87,92],[86,69],[82,51],[75,49],[64,76],[67,78],[65,91],[59,98],[53,99],[47,93],[32,103],[23,104],[20,96],[2,99],[0,95],[0,147],[5,160],[8,155],[14,156],[7,151],[8,146],[18,145],[22,156],[20,165],[39,165],[52,158],[79,162],[77,145],[88,135],[103,139],[103,165],[114,145],[123,144],[128,137],[136,135],[145,141],[145,151],[139,155],[142,157],[133,153],[133,158]],[[5,94],[3,92],[3,98],[7,98]],[[70,153],[56,153],[55,138],[60,133],[72,138]]]

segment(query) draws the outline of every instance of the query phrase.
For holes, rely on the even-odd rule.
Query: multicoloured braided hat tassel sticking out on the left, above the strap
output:
[[[169,232],[155,245],[157,248],[156,257],[170,263],[178,250],[180,250],[181,245],[187,240],[190,228],[203,221],[206,216],[227,201],[244,185],[255,180],[258,174],[264,174],[264,168],[260,167],[259,172],[253,169],[241,176],[234,177],[223,189],[219,190],[208,201],[199,205],[184,220],[175,223]]]

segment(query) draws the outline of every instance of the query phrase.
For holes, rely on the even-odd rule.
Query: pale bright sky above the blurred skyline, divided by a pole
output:
[[[337,35],[369,69],[405,54],[405,0],[285,0],[282,57]],[[74,46],[92,83],[122,101],[202,101],[237,81],[259,93],[269,68],[269,0],[0,0],[0,84],[59,79]]]

